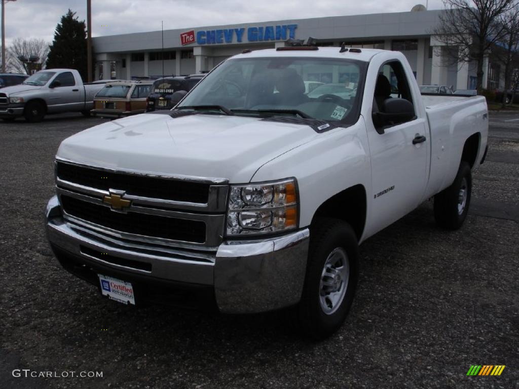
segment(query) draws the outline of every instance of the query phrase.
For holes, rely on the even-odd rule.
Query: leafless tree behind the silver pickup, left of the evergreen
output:
[[[15,38],[7,50],[11,56],[11,67],[16,72],[30,74],[31,68],[39,70],[42,66],[45,66],[49,54],[49,44],[43,39]],[[25,60],[20,57],[25,58]],[[33,64],[28,64],[31,57],[36,57],[37,60]]]

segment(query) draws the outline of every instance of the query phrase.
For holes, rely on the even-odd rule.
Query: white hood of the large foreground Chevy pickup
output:
[[[318,135],[306,125],[250,117],[141,114],[65,139],[57,157],[110,169],[246,183],[263,164]]]

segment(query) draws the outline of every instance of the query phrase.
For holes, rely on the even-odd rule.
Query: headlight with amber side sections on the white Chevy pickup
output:
[[[264,234],[297,228],[297,183],[233,185],[227,211],[227,236]]]

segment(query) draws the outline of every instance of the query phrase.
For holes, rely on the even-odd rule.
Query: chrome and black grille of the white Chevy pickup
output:
[[[228,188],[224,179],[211,182],[58,160],[56,184],[64,217],[74,225],[129,241],[204,251],[222,243]],[[129,200],[124,210],[104,201],[114,193]]]

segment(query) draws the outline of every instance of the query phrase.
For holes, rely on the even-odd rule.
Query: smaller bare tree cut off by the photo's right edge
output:
[[[500,19],[503,35],[492,49],[492,54],[504,65],[504,105],[511,89],[514,65],[519,63],[519,9],[505,13]]]

